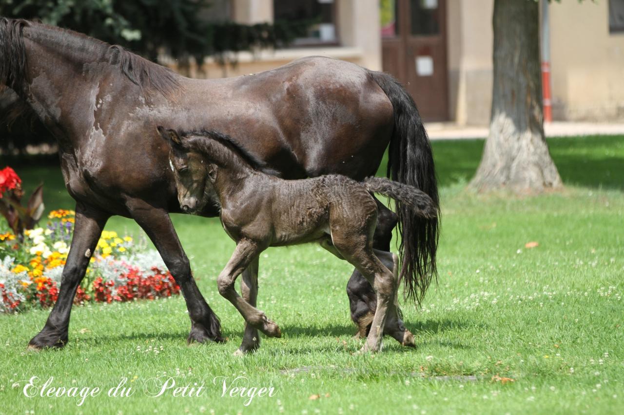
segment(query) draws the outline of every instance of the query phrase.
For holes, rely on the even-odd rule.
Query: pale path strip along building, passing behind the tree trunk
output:
[[[461,126],[454,123],[426,123],[431,140],[474,140],[485,138],[489,132],[487,126]],[[547,137],[577,135],[624,135],[624,124],[552,122],[545,123]]]

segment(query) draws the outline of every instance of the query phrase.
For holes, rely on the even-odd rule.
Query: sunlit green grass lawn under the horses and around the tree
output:
[[[74,307],[69,344],[42,353],[26,345],[47,311],[0,315],[0,413],[623,413],[624,136],[549,145],[567,188],[512,197],[464,190],[483,141],[434,143],[440,278],[422,309],[404,305],[416,350],[386,338],[381,353],[353,355],[360,343],[351,338],[345,293],[351,267],[298,246],[267,250],[260,262],[260,308],[283,337],[234,357],[243,320],[215,282],[234,244],[217,219],[177,215],[228,343],[187,346],[181,297]],[[26,187],[43,180],[48,209],[72,207],[54,163],[2,163]],[[122,218],[107,229],[139,234]],[[539,246],[526,249],[530,241]],[[32,376],[104,392],[80,407],[76,398],[26,398],[22,381]],[[142,388],[158,376],[177,376],[176,386],[204,383],[205,392],[149,398]],[[248,406],[222,396],[223,377],[230,386],[237,376],[275,388],[274,396]],[[135,393],[106,396],[124,377]]]

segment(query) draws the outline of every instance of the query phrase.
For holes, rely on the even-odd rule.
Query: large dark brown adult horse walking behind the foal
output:
[[[195,80],[76,32],[0,18],[0,87],[14,90],[56,137],[67,191],[76,199],[59,299],[32,348],[66,344],[74,294],[112,215],[144,229],[182,287],[188,341],[222,341],[170,221],[180,207],[157,125],[249,137],[240,145],[287,179],[338,173],[360,180],[376,172],[389,145],[392,179],[438,204],[431,146],[412,98],[389,75],[341,60],[308,57],[260,74]],[[376,249],[389,250],[397,222],[412,229],[414,238],[401,242],[402,267],[416,267],[414,295],[421,298],[436,271],[437,219],[378,206]],[[202,214],[217,212],[209,206]],[[253,267],[246,273],[256,278]],[[347,292],[351,317],[366,331],[373,289],[354,272]]]

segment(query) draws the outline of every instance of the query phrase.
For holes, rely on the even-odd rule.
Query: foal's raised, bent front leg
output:
[[[264,312],[253,307],[245,301],[245,298],[238,295],[234,288],[236,277],[241,274],[254,260],[257,259],[264,247],[258,246],[257,242],[249,239],[241,239],[236,244],[236,249],[232,257],[219,274],[217,285],[219,293],[223,295],[236,310],[245,318],[245,322],[251,327],[255,327],[269,337],[281,337],[281,330],[275,322],[269,320]]]

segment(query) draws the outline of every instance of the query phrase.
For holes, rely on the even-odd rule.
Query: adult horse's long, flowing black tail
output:
[[[436,171],[431,143],[427,137],[416,103],[399,81],[383,72],[369,72],[388,96],[394,108],[394,131],[388,151],[388,176],[409,184],[431,197],[439,212]],[[439,214],[427,216],[407,203],[397,203],[399,216],[400,275],[404,278],[406,297],[421,302],[432,279],[437,277],[436,251]]]

